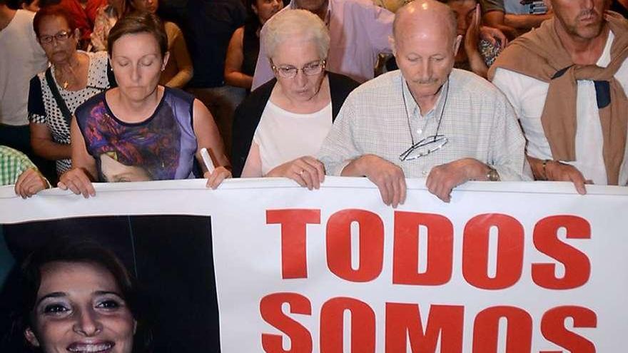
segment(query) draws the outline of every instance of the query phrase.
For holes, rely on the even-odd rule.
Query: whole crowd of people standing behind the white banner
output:
[[[168,1],[8,1],[0,169],[22,197],[343,175],[396,207],[405,178],[445,202],[467,180],[628,184],[624,1],[189,0],[181,26]]]

